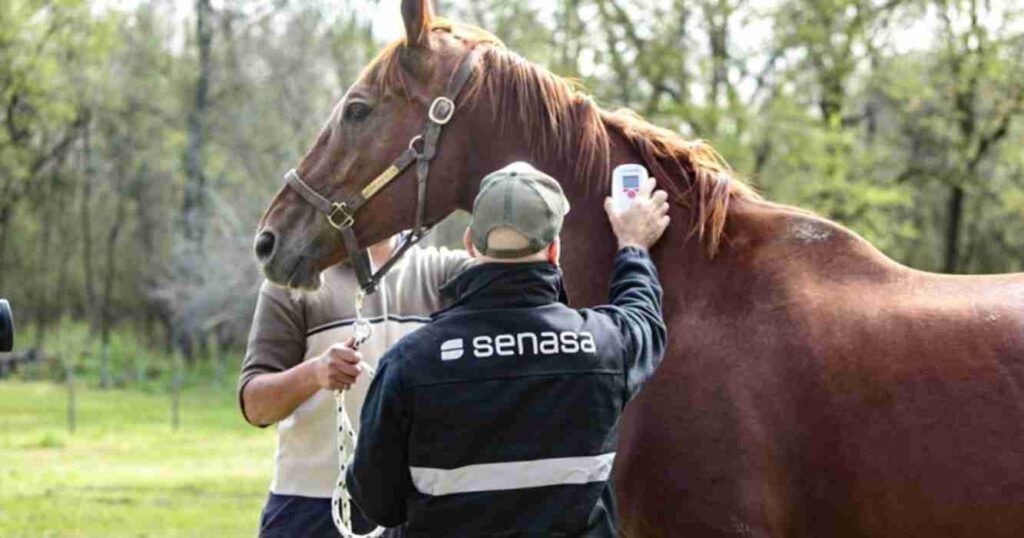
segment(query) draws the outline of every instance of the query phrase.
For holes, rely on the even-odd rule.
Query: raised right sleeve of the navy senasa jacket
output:
[[[608,302],[595,309],[618,327],[626,351],[627,398],[632,399],[662,363],[668,341],[662,285],[646,251],[627,247],[615,255]]]

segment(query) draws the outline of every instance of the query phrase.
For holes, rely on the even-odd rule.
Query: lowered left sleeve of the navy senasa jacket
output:
[[[352,500],[370,521],[384,527],[406,523],[409,472],[409,415],[402,404],[397,357],[400,345],[381,359],[359,417],[359,442],[346,474]]]

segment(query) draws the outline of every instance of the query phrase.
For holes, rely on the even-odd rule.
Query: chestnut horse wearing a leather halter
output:
[[[1024,536],[1024,276],[952,277],[887,258],[850,231],[761,201],[702,142],[607,113],[470,26],[404,0],[406,38],[338,104],[298,172],[351,197],[419,134],[475,49],[432,162],[427,222],[527,160],[572,201],[563,268],[605,300],[610,167],[643,163],[678,204],[651,254],[670,351],[623,419],[622,534]],[[354,215],[359,245],[412,227],[412,169]],[[315,288],[347,254],[283,188],[260,222],[267,278]]]

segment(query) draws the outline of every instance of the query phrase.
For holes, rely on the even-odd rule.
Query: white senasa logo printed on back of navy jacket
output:
[[[441,361],[462,359],[465,349],[462,338],[453,338],[441,343]],[[522,355],[597,354],[594,335],[590,332],[554,332],[540,334],[521,332],[475,336],[472,339],[473,356],[477,359],[488,357],[515,357]]]

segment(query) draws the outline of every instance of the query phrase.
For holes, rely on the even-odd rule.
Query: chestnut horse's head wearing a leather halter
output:
[[[310,203],[316,195],[332,203],[359,199],[371,182],[413,144],[424,149],[428,114],[474,46],[493,41],[470,27],[452,28],[433,18],[429,0],[403,0],[406,38],[389,45],[364,69],[358,80],[337,104],[312,149],[299,164],[295,177],[308,185],[283,187],[263,214],[256,236],[256,256],[271,282],[314,289],[319,273],[344,261],[348,254],[334,224],[350,224],[361,248],[415,225],[418,207],[416,163],[407,167],[355,211],[341,208],[326,218],[325,207]],[[430,162],[426,214],[432,223],[454,211],[471,194],[462,180],[467,175],[467,146],[471,136],[467,111],[444,126],[442,142]],[[291,179],[294,182],[294,178]],[[315,200],[313,200],[315,202]],[[330,207],[330,206],[328,206]],[[348,217],[352,219],[349,222]]]

